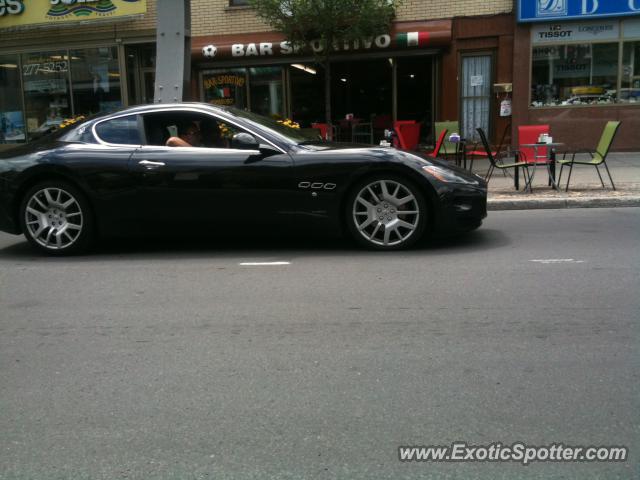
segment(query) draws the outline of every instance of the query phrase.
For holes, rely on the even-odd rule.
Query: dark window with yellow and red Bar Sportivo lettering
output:
[[[204,72],[202,87],[205,102],[242,109],[247,107],[247,77],[244,68]]]

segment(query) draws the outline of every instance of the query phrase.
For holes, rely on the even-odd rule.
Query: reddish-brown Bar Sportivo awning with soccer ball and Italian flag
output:
[[[335,45],[335,55],[434,48],[450,43],[451,20],[395,22],[390,34]],[[306,48],[296,51],[285,41],[283,35],[276,32],[208,35],[191,39],[192,59],[198,63],[269,57],[295,58],[321,53],[322,49],[319,41],[312,41]]]

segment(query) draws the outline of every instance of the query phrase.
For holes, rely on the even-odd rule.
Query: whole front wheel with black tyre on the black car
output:
[[[350,191],[345,218],[351,236],[376,250],[401,250],[420,240],[427,228],[424,194],[399,175],[377,175]]]

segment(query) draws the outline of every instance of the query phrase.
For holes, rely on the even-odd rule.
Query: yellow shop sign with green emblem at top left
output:
[[[0,29],[139,15],[147,0],[2,0]]]

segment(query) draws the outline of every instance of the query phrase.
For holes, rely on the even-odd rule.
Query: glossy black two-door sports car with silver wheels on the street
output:
[[[480,177],[446,161],[201,103],[67,122],[0,152],[0,230],[51,254],[84,250],[96,234],[194,227],[349,232],[392,250],[479,227],[486,197]]]

